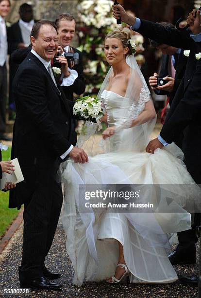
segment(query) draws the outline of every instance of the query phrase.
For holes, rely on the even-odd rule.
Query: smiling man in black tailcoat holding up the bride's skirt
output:
[[[57,85],[50,61],[57,53],[58,35],[54,23],[43,20],[31,32],[31,53],[19,65],[13,83],[17,117],[12,157],[17,157],[25,181],[10,192],[10,208],[24,204],[24,242],[19,267],[21,287],[60,289],[49,279],[60,274],[45,267],[58,223],[63,195],[57,171],[69,155],[86,162],[83,149],[69,142],[72,102]]]

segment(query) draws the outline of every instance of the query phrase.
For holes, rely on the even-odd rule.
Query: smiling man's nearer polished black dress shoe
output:
[[[41,276],[31,281],[20,282],[21,288],[31,288],[35,290],[60,290],[62,285],[52,282],[49,279]]]

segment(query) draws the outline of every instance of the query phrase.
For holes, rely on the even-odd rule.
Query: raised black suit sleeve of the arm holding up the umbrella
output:
[[[158,23],[144,19],[141,19],[141,25],[136,31],[143,36],[176,48],[189,49],[192,44],[195,44],[195,41],[190,37],[189,32],[187,31],[179,31],[174,28],[164,28]]]

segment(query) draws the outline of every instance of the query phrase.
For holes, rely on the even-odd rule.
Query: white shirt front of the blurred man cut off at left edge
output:
[[[0,16],[0,66],[6,62],[8,52],[7,32],[5,20]]]

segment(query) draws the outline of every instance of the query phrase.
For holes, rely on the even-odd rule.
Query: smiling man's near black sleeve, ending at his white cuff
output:
[[[26,68],[20,74],[14,92],[17,93],[17,101],[26,111],[26,117],[32,119],[33,125],[44,136],[44,142],[56,156],[61,156],[71,144],[54,125],[48,109],[46,88],[37,70]]]

